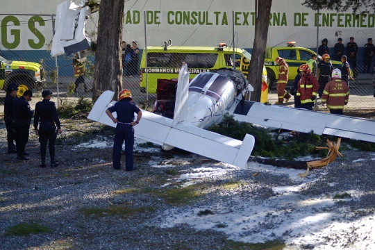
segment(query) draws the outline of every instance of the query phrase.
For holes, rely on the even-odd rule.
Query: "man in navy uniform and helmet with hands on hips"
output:
[[[116,124],[115,143],[113,144],[113,168],[121,169],[121,151],[125,140],[126,171],[136,170],[133,167],[134,128],[140,122],[142,112],[135,103],[131,102],[130,90],[122,90],[119,93],[119,101],[106,110],[107,115]],[[112,113],[117,113],[117,118]],[[134,113],[137,120],[134,122]]]

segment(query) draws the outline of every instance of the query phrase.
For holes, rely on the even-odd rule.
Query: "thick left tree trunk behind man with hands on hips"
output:
[[[98,22],[97,49],[95,52],[95,73],[92,100],[101,92],[112,90],[115,99],[122,88],[122,17],[124,0],[101,0]]]

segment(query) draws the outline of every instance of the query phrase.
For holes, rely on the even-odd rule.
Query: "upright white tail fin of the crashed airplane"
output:
[[[189,71],[188,64],[183,64],[178,74],[176,103],[174,104],[173,126],[183,122],[188,115],[188,95],[189,95]]]

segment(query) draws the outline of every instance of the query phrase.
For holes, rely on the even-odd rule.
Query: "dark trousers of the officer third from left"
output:
[[[39,142],[40,142],[40,156],[42,158],[46,157],[47,151],[47,142],[49,148],[49,156],[52,158],[55,157],[55,134],[56,126],[52,124],[40,124],[39,128]]]

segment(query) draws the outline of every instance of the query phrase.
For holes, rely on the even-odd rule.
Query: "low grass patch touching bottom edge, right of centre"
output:
[[[282,240],[269,240],[264,243],[245,243],[245,242],[235,242],[234,240],[224,240],[223,250],[282,250],[286,247]]]

